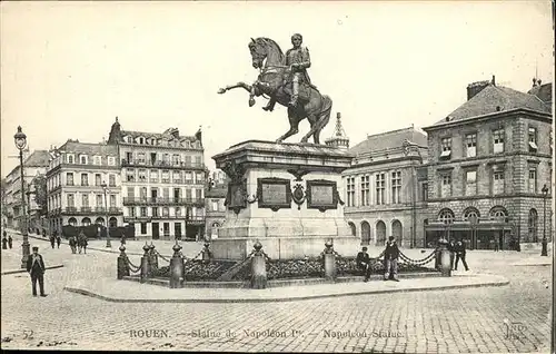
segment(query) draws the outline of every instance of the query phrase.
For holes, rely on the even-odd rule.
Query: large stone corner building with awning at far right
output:
[[[424,128],[427,244],[444,236],[471,249],[508,248],[539,242],[543,229],[549,235],[552,85],[537,83],[528,94],[497,86],[494,77],[470,83],[466,102]]]

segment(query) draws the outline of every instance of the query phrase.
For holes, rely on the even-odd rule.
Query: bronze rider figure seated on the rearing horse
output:
[[[286,66],[289,67],[291,71],[291,82],[292,82],[292,95],[289,101],[290,107],[297,106],[297,100],[299,98],[299,82],[302,80],[310,85],[309,75],[307,69],[311,66],[311,59],[309,56],[309,49],[301,47],[304,38],[299,33],[291,36],[291,45],[294,48],[286,52]]]

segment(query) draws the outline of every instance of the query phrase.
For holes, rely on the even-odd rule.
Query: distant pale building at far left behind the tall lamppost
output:
[[[40,175],[46,174],[50,155],[47,150],[34,150],[28,156],[23,155],[23,184],[24,193],[29,191],[29,186],[32,179]],[[9,227],[20,228],[21,220],[23,217],[21,208],[21,168],[18,166],[6,177],[6,207],[7,210],[7,224]],[[29,217],[30,212],[33,209],[33,205],[29,208],[28,201],[34,201],[34,198],[28,198],[26,195],[26,214]],[[34,208],[36,209],[36,208]],[[31,227],[32,223],[28,223]]]

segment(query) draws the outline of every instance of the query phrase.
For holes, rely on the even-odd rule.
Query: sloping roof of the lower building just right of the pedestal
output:
[[[405,140],[427,147],[427,136],[414,127],[367,136],[367,139],[349,149],[351,154],[364,154],[391,148],[401,148]]]

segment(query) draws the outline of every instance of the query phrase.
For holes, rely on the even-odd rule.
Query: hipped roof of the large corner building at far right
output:
[[[497,111],[527,108],[540,112],[550,112],[550,107],[537,96],[520,92],[508,87],[488,85],[471,99],[459,106],[456,110],[435,124],[443,125],[447,121],[465,120],[477,116]]]

